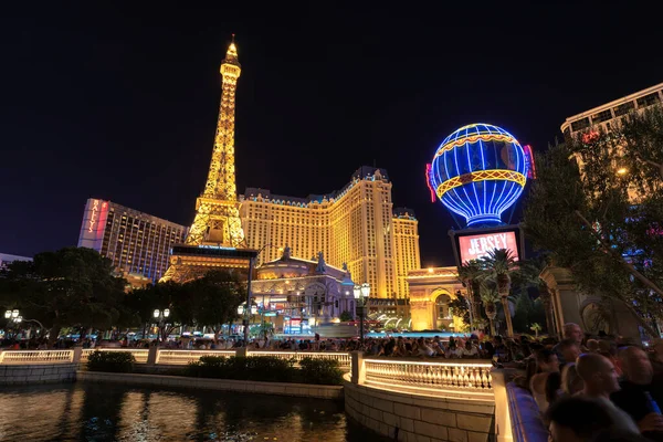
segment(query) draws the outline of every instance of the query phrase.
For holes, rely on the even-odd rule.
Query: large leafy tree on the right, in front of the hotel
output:
[[[526,233],[580,291],[618,304],[652,336],[663,318],[663,114],[551,146],[537,160]],[[580,166],[579,166],[580,165]]]

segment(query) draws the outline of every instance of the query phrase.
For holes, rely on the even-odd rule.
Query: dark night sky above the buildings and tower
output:
[[[540,150],[566,117],[663,81],[655,3],[12,3],[0,252],[21,255],[75,245],[90,197],[191,222],[233,32],[239,191],[329,192],[375,161],[417,212],[422,265],[453,262],[424,180],[446,135],[485,122]]]

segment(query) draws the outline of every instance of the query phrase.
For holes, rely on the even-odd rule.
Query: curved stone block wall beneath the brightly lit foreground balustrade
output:
[[[345,383],[346,413],[401,442],[495,440],[493,401],[412,396]]]

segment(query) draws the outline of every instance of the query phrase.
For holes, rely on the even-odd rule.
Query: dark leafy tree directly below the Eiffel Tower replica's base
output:
[[[223,324],[229,324],[236,318],[238,306],[246,299],[245,283],[238,277],[236,273],[211,271],[186,285],[194,299],[196,322],[212,328],[215,340]]]

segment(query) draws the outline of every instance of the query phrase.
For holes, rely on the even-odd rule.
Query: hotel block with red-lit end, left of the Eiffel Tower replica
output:
[[[85,204],[78,246],[96,250],[131,280],[155,282],[168,269],[170,248],[186,235],[185,225],[91,198]]]

